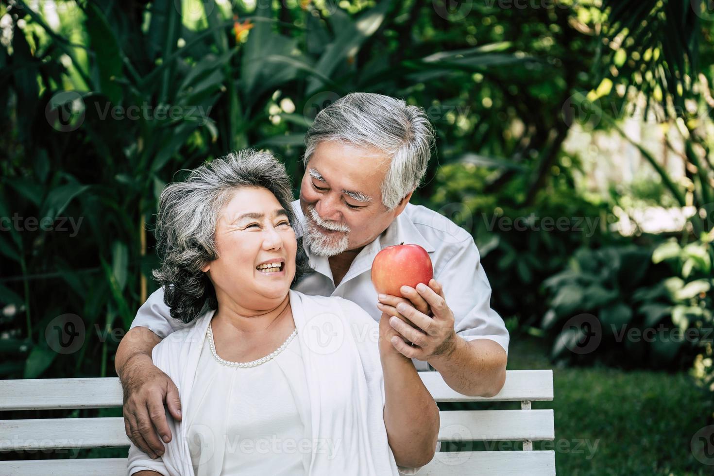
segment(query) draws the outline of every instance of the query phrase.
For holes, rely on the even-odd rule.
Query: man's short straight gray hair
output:
[[[391,157],[381,183],[388,210],[418,187],[426,173],[434,132],[423,109],[375,93],[349,93],[318,113],[305,136],[305,168],[321,142],[371,146]]]

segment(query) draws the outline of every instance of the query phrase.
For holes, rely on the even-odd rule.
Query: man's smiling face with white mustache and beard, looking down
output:
[[[380,186],[391,159],[373,148],[343,142],[318,144],[300,186],[304,243],[316,255],[334,256],[371,243],[392,223]]]

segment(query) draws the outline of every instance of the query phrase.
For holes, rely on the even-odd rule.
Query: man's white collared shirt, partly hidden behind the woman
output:
[[[292,206],[298,221],[304,223],[300,202],[293,201]],[[301,236],[301,227],[296,227],[296,234]],[[301,279],[294,289],[309,295],[351,300],[379,322],[382,313],[376,306],[377,292],[371,280],[372,261],[383,248],[402,242],[420,245],[429,253],[434,279],[443,286],[446,304],[453,311],[456,333],[465,340],[493,340],[508,354],[508,330],[501,316],[491,309],[491,285],[481,266],[481,255],[473,237],[445,216],[423,206],[408,203],[384,233],[360,251],[337,286],[328,258],[306,250],[315,273]],[[171,318],[161,288],[139,308],[131,323],[132,328],[136,326],[149,328],[161,338],[183,327]],[[413,362],[417,370],[428,370],[426,362],[416,359]]]

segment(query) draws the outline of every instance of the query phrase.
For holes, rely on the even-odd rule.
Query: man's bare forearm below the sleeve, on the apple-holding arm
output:
[[[506,382],[508,357],[490,339],[464,340],[455,336],[450,353],[429,360],[446,384],[463,395],[493,397]]]

